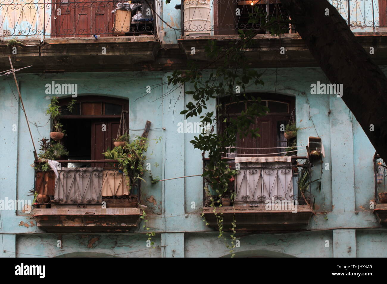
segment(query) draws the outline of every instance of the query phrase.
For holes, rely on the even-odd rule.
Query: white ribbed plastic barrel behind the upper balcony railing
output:
[[[211,34],[211,1],[185,0],[183,12],[185,36],[209,36]]]

